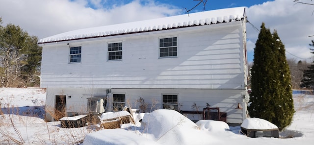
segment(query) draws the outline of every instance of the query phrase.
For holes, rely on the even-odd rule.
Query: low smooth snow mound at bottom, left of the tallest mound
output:
[[[87,134],[83,145],[157,145],[157,143],[124,129],[105,129]]]

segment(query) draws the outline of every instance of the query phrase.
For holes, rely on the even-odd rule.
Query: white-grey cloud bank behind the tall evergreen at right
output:
[[[248,8],[246,14],[250,23],[258,29],[262,22],[270,30],[277,30],[279,37],[285,44],[287,58],[302,60],[311,58],[309,43],[314,40],[314,6],[295,4],[293,0],[275,0],[253,5]],[[247,24],[247,38],[254,44],[259,32]],[[252,47],[252,46],[250,46]],[[254,46],[255,47],[255,46]],[[252,48],[248,49],[251,50]],[[293,55],[289,54],[292,53]]]

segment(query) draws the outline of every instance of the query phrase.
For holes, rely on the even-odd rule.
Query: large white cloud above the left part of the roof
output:
[[[153,0],[145,1],[100,6],[106,0],[1,0],[0,17],[2,25],[19,25],[41,39],[75,29],[154,19],[181,11]]]

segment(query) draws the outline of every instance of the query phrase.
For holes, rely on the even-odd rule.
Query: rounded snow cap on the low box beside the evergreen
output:
[[[241,124],[241,127],[246,129],[278,129],[278,127],[266,120],[259,118],[247,118]]]

